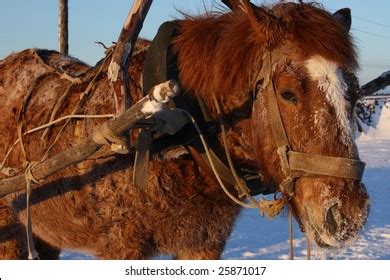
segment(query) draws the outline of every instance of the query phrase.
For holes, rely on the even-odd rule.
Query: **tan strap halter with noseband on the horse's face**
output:
[[[275,84],[271,76],[272,67],[274,66],[273,58],[286,55],[289,50],[291,50],[291,46],[286,44],[281,48],[266,52],[263,56],[262,69],[256,80],[263,81],[262,87],[258,91],[263,91],[266,94],[268,118],[277,146],[280,167],[284,175],[279,185],[279,190],[284,197],[285,203],[300,225],[301,230],[304,231],[303,224],[292,204],[296,179],[331,176],[361,181],[366,164],[358,159],[308,154],[296,152],[292,149],[282,121]]]

